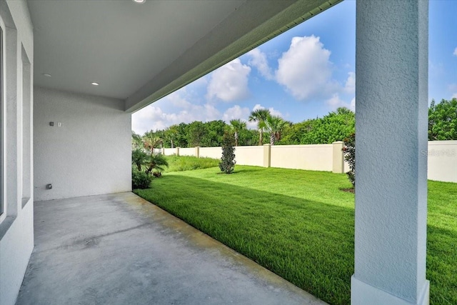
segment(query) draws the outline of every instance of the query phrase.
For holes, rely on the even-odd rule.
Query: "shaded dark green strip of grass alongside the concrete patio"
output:
[[[261,169],[241,169],[260,171]],[[349,304],[353,209],[189,176],[136,194],[331,304]]]

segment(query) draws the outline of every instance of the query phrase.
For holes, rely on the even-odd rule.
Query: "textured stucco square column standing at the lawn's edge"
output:
[[[428,1],[357,1],[351,304],[428,304]]]

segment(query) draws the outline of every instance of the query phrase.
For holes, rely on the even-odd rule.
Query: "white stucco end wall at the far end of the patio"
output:
[[[123,101],[41,87],[34,100],[36,201],[131,191],[131,114]]]

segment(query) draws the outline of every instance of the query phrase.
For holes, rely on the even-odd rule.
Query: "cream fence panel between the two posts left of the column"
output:
[[[332,171],[333,145],[271,146],[271,167]]]

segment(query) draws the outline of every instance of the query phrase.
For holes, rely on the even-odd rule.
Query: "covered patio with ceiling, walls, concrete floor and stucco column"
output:
[[[340,1],[0,1],[1,305],[302,302],[129,193],[131,113]],[[428,304],[427,99],[428,1],[358,1],[353,305]]]

